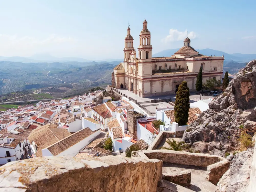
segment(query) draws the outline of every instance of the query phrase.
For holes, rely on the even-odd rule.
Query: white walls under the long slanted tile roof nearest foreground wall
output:
[[[74,144],[73,146],[69,147],[67,150],[61,152],[60,154],[56,155],[56,157],[60,156],[68,156],[68,157],[74,157],[79,153],[79,150],[81,150],[83,147],[87,146],[96,136],[100,134],[100,129],[90,136],[84,138],[82,141],[78,142],[77,144]],[[45,148],[42,150],[42,156],[53,156],[51,152]]]

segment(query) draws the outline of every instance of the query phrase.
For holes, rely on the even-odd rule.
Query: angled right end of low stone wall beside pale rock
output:
[[[229,163],[221,161],[212,165],[207,166],[208,174],[206,178],[209,182],[217,185],[222,175],[228,170]]]

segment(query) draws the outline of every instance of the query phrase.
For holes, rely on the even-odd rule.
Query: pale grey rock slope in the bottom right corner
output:
[[[229,170],[219,180],[216,192],[247,192],[253,158],[253,148],[234,155]]]

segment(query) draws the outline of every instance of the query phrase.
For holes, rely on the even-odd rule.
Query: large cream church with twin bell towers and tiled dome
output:
[[[146,19],[140,32],[138,58],[133,47],[131,29],[128,27],[124,38],[124,62],[114,68],[112,86],[125,88],[141,97],[174,94],[182,81],[187,81],[190,91],[196,89],[196,77],[202,68],[203,82],[215,78],[221,80],[223,71],[222,57],[199,54],[189,38],[184,45],[170,57],[152,57],[151,34]]]

